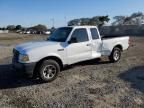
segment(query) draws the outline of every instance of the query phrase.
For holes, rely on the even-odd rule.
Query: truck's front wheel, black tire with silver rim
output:
[[[39,68],[39,77],[42,82],[55,80],[60,72],[59,64],[54,60],[43,61]]]

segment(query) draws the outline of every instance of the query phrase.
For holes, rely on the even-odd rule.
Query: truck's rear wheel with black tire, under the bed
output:
[[[114,62],[118,62],[120,58],[121,58],[121,50],[115,47],[111,55],[109,56],[109,60],[114,63]]]

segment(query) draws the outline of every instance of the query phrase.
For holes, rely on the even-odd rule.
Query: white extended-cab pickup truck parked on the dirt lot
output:
[[[16,70],[50,82],[66,65],[101,56],[117,62],[128,47],[128,36],[101,38],[95,26],[61,27],[45,41],[17,45],[12,64]]]

